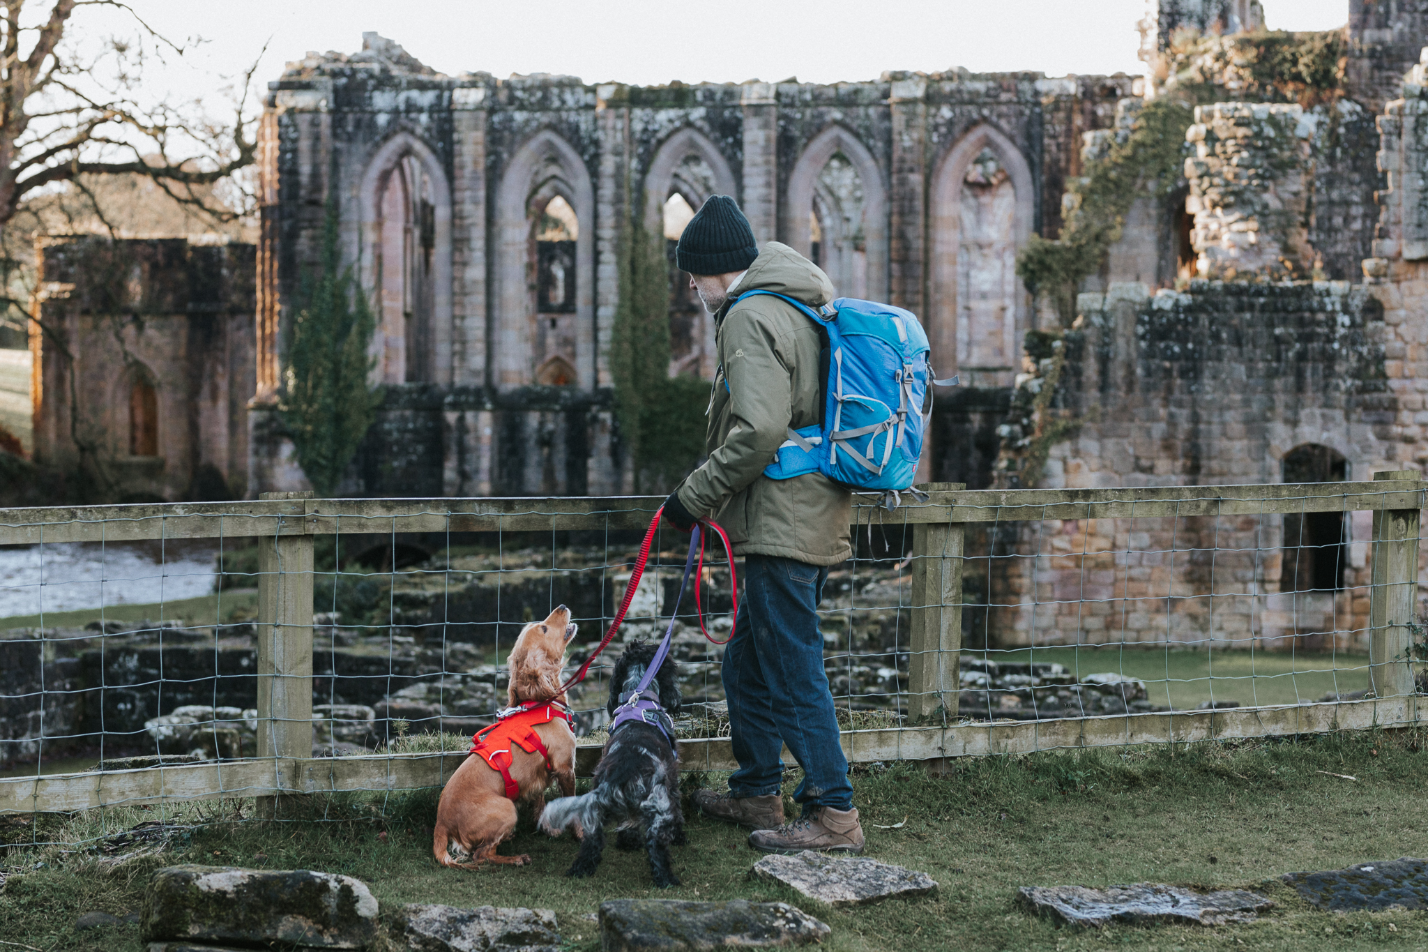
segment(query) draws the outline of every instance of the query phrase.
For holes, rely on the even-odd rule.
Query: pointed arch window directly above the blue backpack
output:
[[[840,295],[887,300],[887,193],[857,136],[830,126],[813,137],[788,176],[787,208],[788,244]]]

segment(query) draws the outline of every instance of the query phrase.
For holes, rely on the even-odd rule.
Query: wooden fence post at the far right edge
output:
[[[1417,480],[1412,470],[1374,480]],[[1368,682],[1375,698],[1414,692],[1408,622],[1418,614],[1418,510],[1374,510],[1374,567],[1368,608]]]

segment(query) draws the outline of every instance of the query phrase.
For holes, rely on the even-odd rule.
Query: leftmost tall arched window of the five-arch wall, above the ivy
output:
[[[363,174],[361,211],[378,380],[450,383],[451,194],[426,143],[398,133],[377,150]]]

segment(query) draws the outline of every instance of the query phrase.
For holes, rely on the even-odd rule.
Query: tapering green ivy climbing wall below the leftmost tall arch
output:
[[[377,318],[353,270],[343,267],[334,201],[323,224],[321,275],[303,274],[298,300],[278,412],[313,490],[331,495],[381,404],[381,388],[367,383]]]

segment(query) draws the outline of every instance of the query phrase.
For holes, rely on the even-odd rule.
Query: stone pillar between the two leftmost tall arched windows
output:
[[[451,90],[451,384],[486,384],[486,87]]]

